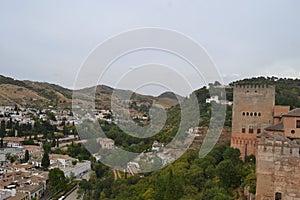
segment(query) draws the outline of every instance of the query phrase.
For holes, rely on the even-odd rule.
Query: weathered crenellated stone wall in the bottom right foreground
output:
[[[300,145],[279,135],[261,138],[256,156],[256,200],[300,200]],[[277,197],[276,197],[277,196]]]

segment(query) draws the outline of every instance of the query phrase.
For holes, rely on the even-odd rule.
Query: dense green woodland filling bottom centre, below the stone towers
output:
[[[84,199],[237,199],[245,186],[255,193],[255,158],[242,162],[239,156],[228,144],[216,146],[203,159],[190,149],[160,171],[116,181],[111,170],[94,163],[90,181],[82,181],[79,192]]]

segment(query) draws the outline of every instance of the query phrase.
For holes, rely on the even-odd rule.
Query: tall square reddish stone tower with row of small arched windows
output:
[[[234,86],[231,147],[240,150],[242,159],[255,155],[256,135],[273,124],[274,106],[274,86]]]

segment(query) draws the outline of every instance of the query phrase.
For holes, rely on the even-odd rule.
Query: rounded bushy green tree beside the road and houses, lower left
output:
[[[66,188],[67,178],[64,172],[59,168],[54,168],[49,171],[49,185],[51,190],[58,192]]]

